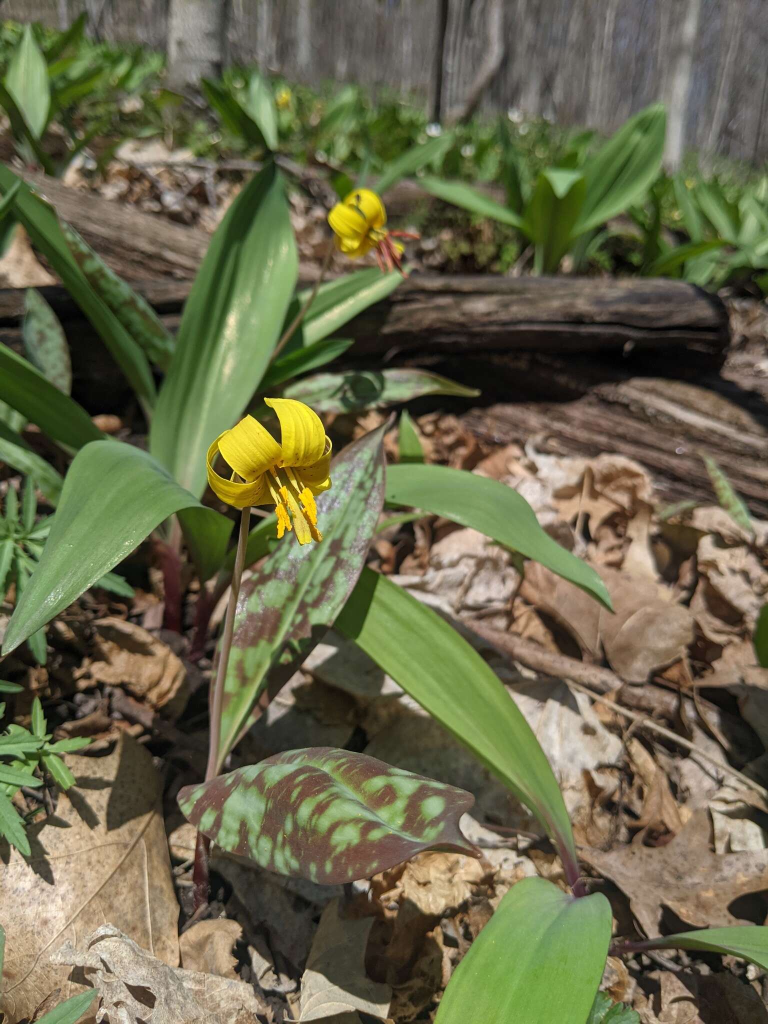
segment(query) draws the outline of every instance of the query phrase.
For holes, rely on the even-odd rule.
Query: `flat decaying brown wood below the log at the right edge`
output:
[[[514,361],[504,369],[513,376]],[[517,371],[512,397],[523,400],[466,415],[477,437],[495,443],[535,438],[541,451],[562,455],[615,452],[650,471],[663,500],[712,504],[700,458],[706,452],[752,512],[768,518],[768,404],[759,380],[728,368],[695,383],[632,377],[615,366],[554,357],[518,364]]]

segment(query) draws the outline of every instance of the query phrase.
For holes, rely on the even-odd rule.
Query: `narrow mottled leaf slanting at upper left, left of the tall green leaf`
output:
[[[61,230],[75,262],[96,295],[138,342],[146,357],[161,370],[167,370],[173,354],[173,336],[150,303],[118,276],[74,227],[62,223]]]

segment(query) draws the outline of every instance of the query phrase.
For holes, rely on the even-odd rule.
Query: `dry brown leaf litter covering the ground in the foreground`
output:
[[[714,503],[667,515],[647,472],[625,457],[490,447],[456,416],[415,419],[429,461],[518,489],[611,594],[613,615],[435,517],[387,526],[371,555],[507,686],[553,764],[588,885],[611,899],[617,934],[762,924],[768,670],[752,634],[768,595],[768,523],[746,530]],[[334,428],[354,436],[381,422],[337,417]],[[482,858],[425,853],[342,892],[217,851],[207,916],[193,921],[194,829],[174,805],[203,773],[210,647],[193,669],[188,637],[169,644],[157,600],[142,600],[133,609],[81,600],[50,631],[49,667],[24,667],[44,699],[69,702],[59,734],[96,735],[99,756],[68,758],[79,786],[31,828],[29,862],[11,852],[0,864],[8,1019],[91,984],[93,1014],[106,1022],[429,1021],[509,888],[534,874],[563,884],[527,810],[331,632],[232,767],[298,745],[359,750],[472,793],[462,827]],[[525,642],[519,656],[505,637]],[[548,671],[531,644],[550,656]],[[156,712],[176,732],[163,732]],[[603,988],[643,1024],[768,1020],[760,972],[731,957],[611,957]]]

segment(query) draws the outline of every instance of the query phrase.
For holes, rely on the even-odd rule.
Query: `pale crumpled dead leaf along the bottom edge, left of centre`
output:
[[[171,968],[123,935],[102,925],[55,963],[79,968],[98,989],[99,1020],[111,1024],[258,1024],[261,1009],[253,988],[240,980]]]

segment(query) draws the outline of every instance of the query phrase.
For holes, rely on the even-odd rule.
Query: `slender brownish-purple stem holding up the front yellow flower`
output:
[[[221,713],[224,706],[224,682],[226,680],[226,668],[229,663],[229,651],[232,646],[234,635],[234,613],[238,609],[238,597],[240,596],[240,584],[243,579],[243,567],[246,561],[246,549],[248,548],[248,527],[251,524],[250,506],[243,509],[240,517],[240,534],[238,535],[238,551],[234,556],[234,568],[232,570],[231,590],[229,591],[229,602],[226,606],[226,616],[224,618],[224,631],[221,634],[221,647],[219,649],[218,665],[216,668],[216,679],[213,683],[210,697],[210,735],[208,740],[208,764],[206,765],[206,782],[213,778],[221,768]],[[226,757],[224,752],[224,757]],[[209,874],[208,874],[208,853],[211,841],[198,833],[195,844],[195,866],[193,867],[193,882],[195,894],[195,910],[199,910],[208,901]]]

